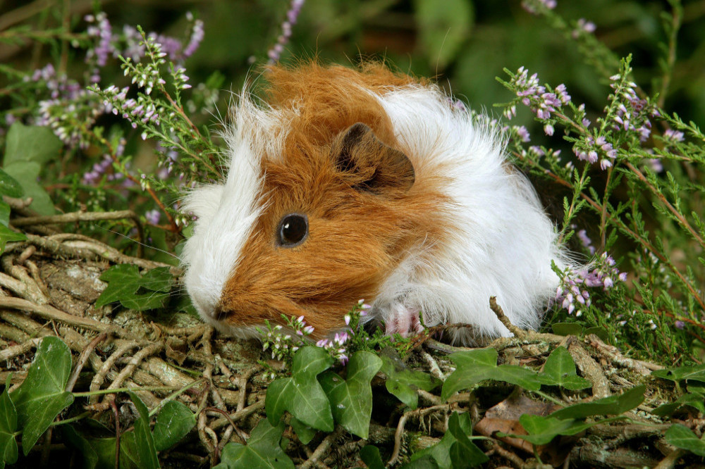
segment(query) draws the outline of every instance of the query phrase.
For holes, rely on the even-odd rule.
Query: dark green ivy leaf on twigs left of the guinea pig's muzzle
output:
[[[137,311],[164,306],[173,283],[168,267],[157,267],[140,275],[140,268],[133,264],[114,265],[99,278],[108,282],[108,286],[95,302],[98,308],[120,301],[125,308]]]

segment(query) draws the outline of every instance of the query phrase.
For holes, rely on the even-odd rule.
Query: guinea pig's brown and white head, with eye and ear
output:
[[[226,181],[185,201],[197,218],[185,287],[223,332],[252,337],[283,314],[303,315],[313,337],[325,337],[359,299],[374,300],[417,236],[408,215],[415,170],[388,119],[362,113],[366,122],[356,122],[361,114],[335,100],[321,106],[336,118],[257,111],[276,118],[274,137],[248,130],[252,115],[237,116]]]

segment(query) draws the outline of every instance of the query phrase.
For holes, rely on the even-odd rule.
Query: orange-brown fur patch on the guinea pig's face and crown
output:
[[[336,167],[345,130],[355,123],[396,147],[391,120],[364,89],[384,94],[388,87],[414,83],[411,77],[383,65],[357,71],[311,63],[268,72],[269,104],[295,109],[295,116],[283,154],[264,158],[269,205],[226,282],[220,306],[235,327],[265,319],[281,323],[281,313],[304,315],[316,329],[314,337],[324,337],[344,327],[343,315],[357,300],[374,300],[408,249],[444,236],[447,200],[439,190],[442,180],[429,170],[417,175],[410,189],[369,192]],[[381,161],[390,149],[378,145],[366,151],[379,151],[366,161]],[[407,177],[394,173],[403,165],[386,170],[384,180]],[[276,240],[278,223],[289,213],[309,220],[308,238],[292,248]]]

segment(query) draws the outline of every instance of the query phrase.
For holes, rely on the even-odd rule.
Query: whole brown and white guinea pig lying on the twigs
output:
[[[221,332],[257,337],[303,316],[314,338],[359,299],[386,332],[467,323],[510,336],[489,308],[537,328],[569,256],[501,133],[437,85],[381,64],[275,65],[224,130],[228,174],[197,187],[184,283]]]

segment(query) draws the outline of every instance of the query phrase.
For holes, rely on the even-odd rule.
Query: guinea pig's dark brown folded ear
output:
[[[363,123],[344,130],[333,152],[336,168],[355,189],[384,194],[407,192],[414,185],[414,166],[409,158],[380,142]]]

